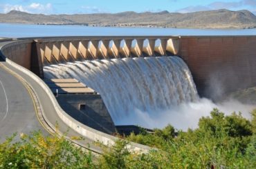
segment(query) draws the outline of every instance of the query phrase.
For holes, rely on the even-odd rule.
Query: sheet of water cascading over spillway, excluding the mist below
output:
[[[190,70],[179,57],[60,63],[44,66],[44,76],[75,78],[93,88],[100,93],[116,124],[138,110],[152,115],[199,99]]]

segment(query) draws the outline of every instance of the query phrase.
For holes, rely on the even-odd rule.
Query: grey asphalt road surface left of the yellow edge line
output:
[[[0,62],[0,142],[13,133],[34,130],[46,133],[35,114],[33,101],[24,85],[6,72]]]

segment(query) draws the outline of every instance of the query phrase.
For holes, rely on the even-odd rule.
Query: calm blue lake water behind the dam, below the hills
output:
[[[149,35],[256,35],[256,29],[109,28],[0,23],[0,37]]]

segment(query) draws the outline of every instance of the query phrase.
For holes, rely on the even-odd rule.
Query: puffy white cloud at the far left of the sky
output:
[[[21,12],[29,12],[29,13],[44,13],[50,14],[53,11],[53,6],[51,3],[30,3],[28,6],[21,6],[21,5],[10,5],[6,4],[3,6],[3,12],[8,13],[11,10],[18,10]]]

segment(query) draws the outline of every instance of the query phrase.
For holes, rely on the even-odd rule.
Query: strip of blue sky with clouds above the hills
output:
[[[256,0],[0,0],[0,12],[20,10],[43,14],[135,12],[194,12],[200,10],[250,10],[256,13]]]

